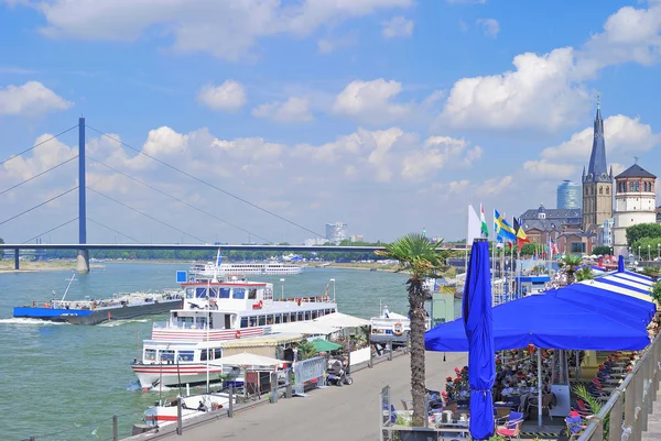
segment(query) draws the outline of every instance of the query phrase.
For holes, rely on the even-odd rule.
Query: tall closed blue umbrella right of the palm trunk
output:
[[[470,436],[474,440],[486,440],[494,434],[491,387],[496,379],[489,243],[486,239],[473,242],[463,302],[468,339]]]

